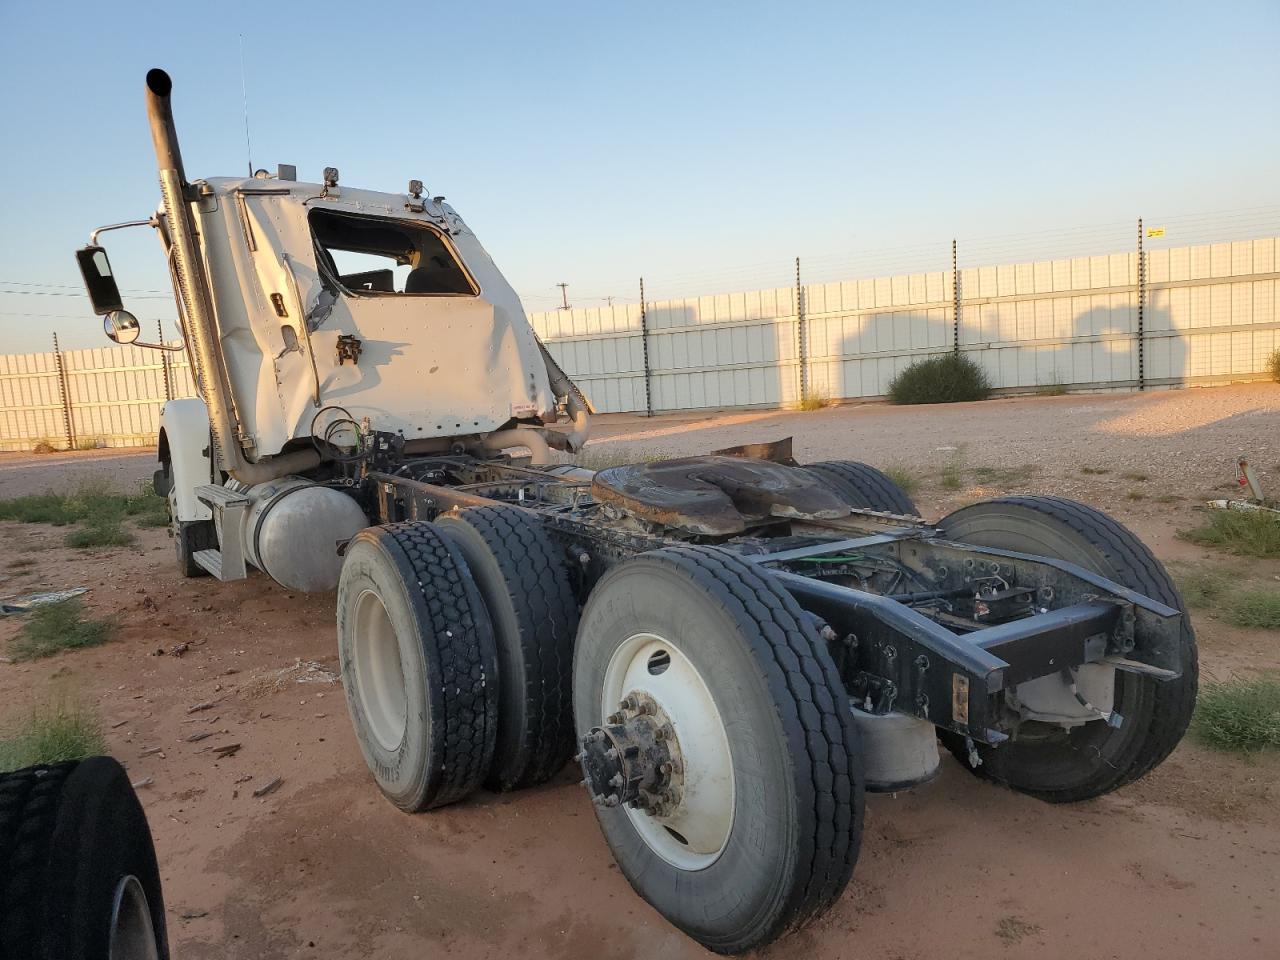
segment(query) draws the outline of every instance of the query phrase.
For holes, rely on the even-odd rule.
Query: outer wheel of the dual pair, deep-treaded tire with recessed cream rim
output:
[[[352,539],[338,658],[356,740],[388,800],[426,810],[480,786],[498,731],[493,627],[466,562],[433,524]]]

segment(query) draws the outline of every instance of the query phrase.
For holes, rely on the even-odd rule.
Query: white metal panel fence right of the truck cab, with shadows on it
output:
[[[1261,378],[1280,347],[1276,238],[1149,251],[1142,348],[1148,387]],[[905,366],[951,349],[951,271],[800,289],[812,392],[882,397]],[[1138,384],[1138,255],[960,271],[960,348],[997,389]],[[795,288],[645,305],[655,411],[799,399]],[[639,305],[531,315],[602,411],[644,410]]]

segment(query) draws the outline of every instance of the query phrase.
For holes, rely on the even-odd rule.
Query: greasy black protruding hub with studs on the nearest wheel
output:
[[[604,726],[582,737],[582,783],[600,806],[626,804],[650,817],[680,806],[684,764],[675,728],[644,692],[622,698]]]

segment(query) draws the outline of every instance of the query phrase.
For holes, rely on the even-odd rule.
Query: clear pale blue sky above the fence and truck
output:
[[[0,0],[0,352],[105,343],[72,252],[157,204],[150,67],[188,175],[246,170],[241,35],[255,166],[422,179],[530,310],[1280,229],[1277,0]]]

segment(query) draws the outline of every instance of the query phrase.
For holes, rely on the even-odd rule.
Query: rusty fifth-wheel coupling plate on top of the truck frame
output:
[[[803,470],[748,457],[684,457],[602,470],[591,494],[650,524],[732,536],[771,520],[837,520],[849,507]]]

